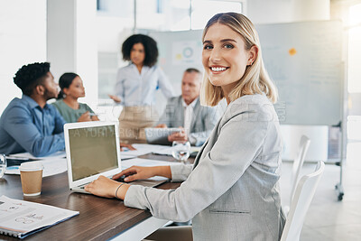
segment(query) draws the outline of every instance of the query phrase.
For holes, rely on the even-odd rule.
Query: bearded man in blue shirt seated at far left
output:
[[[46,156],[63,150],[65,121],[55,107],[46,104],[59,92],[50,63],[24,65],[14,83],[23,97],[15,97],[0,117],[0,153]]]

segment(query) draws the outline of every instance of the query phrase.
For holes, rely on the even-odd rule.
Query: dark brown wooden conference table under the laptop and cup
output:
[[[174,161],[170,156],[147,154],[141,158]],[[194,160],[190,160],[192,162]],[[126,161],[125,161],[126,162]],[[159,189],[176,189],[180,183],[166,182]],[[123,201],[105,199],[93,195],[72,192],[68,186],[68,173],[44,177],[42,194],[24,197],[19,175],[5,175],[0,179],[0,195],[23,199],[79,211],[79,216],[70,218],[53,227],[42,230],[24,240],[140,240],[165,225],[168,220],[153,218],[148,210],[127,208]],[[0,240],[19,240],[0,235]]]

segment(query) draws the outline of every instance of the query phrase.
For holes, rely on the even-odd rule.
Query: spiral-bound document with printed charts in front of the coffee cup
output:
[[[0,197],[0,234],[23,238],[79,215],[36,202]]]

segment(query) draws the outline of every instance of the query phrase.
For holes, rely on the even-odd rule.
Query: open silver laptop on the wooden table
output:
[[[111,178],[122,171],[117,122],[79,122],[64,125],[70,190],[84,190],[100,175]],[[127,161],[129,162],[129,161]],[[162,181],[133,181],[129,184],[155,187]]]

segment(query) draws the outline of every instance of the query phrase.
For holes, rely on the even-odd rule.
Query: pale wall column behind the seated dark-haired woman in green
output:
[[[48,60],[56,79],[75,72],[83,79],[86,97],[97,106],[96,0],[48,0]]]

